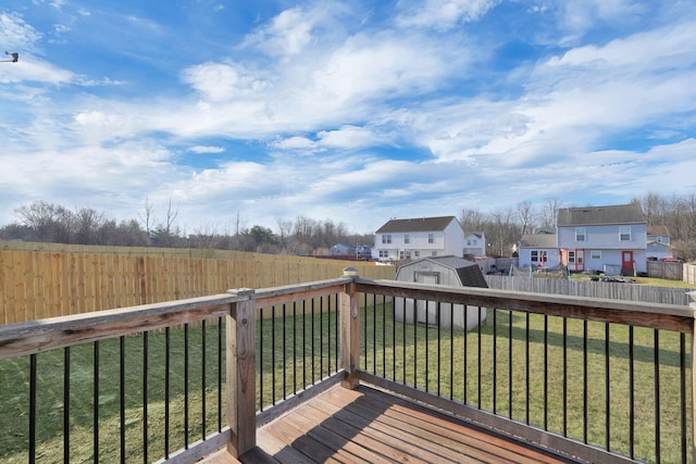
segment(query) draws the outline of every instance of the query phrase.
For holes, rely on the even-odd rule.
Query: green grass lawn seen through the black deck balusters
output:
[[[263,407],[279,401],[304,385],[311,385],[335,372],[336,315],[324,314],[258,323],[262,350],[258,343],[258,404]],[[558,317],[521,313],[487,312],[487,323],[469,334],[403,325],[391,319],[390,305],[374,304],[361,313],[361,367],[376,375],[445,398],[511,416],[515,421],[547,428],[589,443],[629,454],[629,328],[609,327],[609,435],[606,414],[606,342],[604,323],[568,321]],[[495,326],[494,326],[495,322]],[[548,330],[545,331],[544,327]],[[497,337],[494,337],[494,331]],[[566,349],[563,348],[566,333]],[[201,329],[189,330],[189,442],[203,435],[201,413],[206,398],[206,434],[217,429],[217,327],[206,330],[203,350]],[[271,342],[271,335],[275,341]],[[511,337],[510,337],[511,336]],[[223,330],[224,337],[224,330]],[[635,457],[655,461],[656,431],[654,401],[656,368],[655,333],[635,328]],[[545,343],[546,339],[546,343]],[[689,347],[689,337],[685,338]],[[680,453],[680,336],[659,334],[660,448],[662,462],[681,460]],[[223,340],[224,343],[224,340]],[[583,356],[586,343],[587,356]],[[125,415],[128,461],[142,460],[144,440],[144,339],[126,337],[125,344]],[[148,336],[148,455],[160,459],[164,453],[165,411],[165,334]],[[170,452],[184,446],[184,331],[172,330],[170,340]],[[312,347],[314,351],[312,352]],[[324,347],[320,349],[320,347]],[[331,347],[331,353],[328,353]],[[527,348],[529,347],[529,348]],[[527,356],[529,350],[529,356]],[[92,455],[94,422],[94,346],[71,349],[70,434],[71,460],[84,462]],[[207,358],[207,389],[202,384],[202,353]],[[510,355],[511,353],[511,355]],[[313,355],[312,355],[313,354]],[[563,369],[563,354],[567,368]],[[119,453],[120,341],[99,343],[99,449],[100,461],[113,461]],[[452,360],[450,367],[450,358]],[[481,362],[478,362],[481,360]],[[546,361],[545,361],[546,360]],[[529,361],[529,362],[527,362]],[[688,358],[686,365],[689,365]],[[38,363],[37,456],[40,462],[62,462],[63,456],[63,372],[64,352],[41,353]],[[584,369],[584,365],[587,369]],[[26,462],[28,439],[28,359],[0,362],[0,462]],[[527,374],[529,365],[529,374]],[[221,373],[224,381],[224,363]],[[587,381],[585,383],[585,376]],[[691,374],[686,373],[686,378]],[[481,379],[481,381],[478,380]],[[529,389],[527,389],[529,379]],[[263,385],[263,389],[260,386]],[[271,388],[275,385],[275,390]],[[587,386],[586,393],[584,386]],[[262,390],[262,391],[261,391]],[[691,388],[687,387],[687,396]],[[224,391],[222,392],[224,404]],[[586,396],[586,402],[585,400]],[[511,400],[511,401],[510,401]],[[691,396],[686,399],[691,414]],[[586,404],[586,411],[584,410]],[[546,411],[546,413],[545,413]],[[566,416],[563,415],[566,411]],[[583,416],[587,416],[586,437]],[[687,418],[691,421],[691,415]],[[224,425],[224,410],[222,423]],[[567,424],[564,429],[564,424]],[[689,422],[691,424],[691,422]],[[687,437],[691,436],[691,428]],[[691,457],[689,457],[691,459]]]

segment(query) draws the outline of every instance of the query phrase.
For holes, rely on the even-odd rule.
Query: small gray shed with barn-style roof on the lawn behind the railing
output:
[[[396,280],[428,285],[448,285],[455,287],[487,288],[486,279],[476,263],[458,256],[433,256],[412,261],[399,266]],[[439,311],[439,312],[438,312]],[[435,301],[413,301],[396,298],[394,302],[396,321],[406,324],[437,326],[447,330],[467,330],[476,328],[486,322],[486,309],[463,304],[440,303]]]

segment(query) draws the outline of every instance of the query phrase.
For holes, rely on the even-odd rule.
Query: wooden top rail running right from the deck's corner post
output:
[[[563,294],[452,287],[356,278],[358,291],[456,304],[610,322],[692,334],[696,312],[685,305],[580,298]]]

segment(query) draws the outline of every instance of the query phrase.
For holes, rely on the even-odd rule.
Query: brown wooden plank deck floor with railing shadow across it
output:
[[[334,387],[257,430],[247,463],[573,463],[368,386]],[[207,464],[238,463],[225,452]]]

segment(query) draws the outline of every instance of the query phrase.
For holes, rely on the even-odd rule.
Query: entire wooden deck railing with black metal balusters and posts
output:
[[[3,326],[0,453],[239,455],[363,380],[586,461],[689,462],[693,329],[687,306],[357,276]]]

